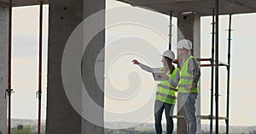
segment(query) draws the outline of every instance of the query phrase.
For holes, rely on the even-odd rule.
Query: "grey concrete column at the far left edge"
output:
[[[0,134],[7,134],[9,8],[0,7]]]

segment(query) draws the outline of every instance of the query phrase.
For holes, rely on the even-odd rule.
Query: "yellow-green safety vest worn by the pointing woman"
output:
[[[174,80],[177,70],[179,69],[174,68],[172,74],[170,74],[170,71],[167,71],[166,75],[168,75],[168,77]],[[157,85],[155,100],[159,100],[164,103],[175,104],[177,87],[172,87],[169,81],[160,81],[160,84]]]

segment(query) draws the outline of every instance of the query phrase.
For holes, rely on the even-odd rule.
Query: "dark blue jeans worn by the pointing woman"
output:
[[[172,114],[174,105],[171,103],[163,103],[158,100],[154,102],[154,127],[156,134],[162,134],[162,126],[161,126],[161,120],[162,120],[162,114],[165,109],[166,114],[166,134],[172,134],[173,131],[173,120],[172,120]]]

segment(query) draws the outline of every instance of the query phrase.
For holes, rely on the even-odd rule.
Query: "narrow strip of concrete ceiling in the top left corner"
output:
[[[49,0],[44,0],[44,3],[49,3]],[[30,6],[30,5],[38,5],[38,0],[13,0],[13,6]],[[9,6],[9,0],[0,0],[0,6],[7,7]]]

